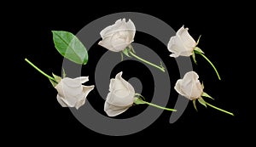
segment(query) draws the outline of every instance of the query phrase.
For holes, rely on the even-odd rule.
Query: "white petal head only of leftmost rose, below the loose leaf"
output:
[[[55,86],[58,91],[57,100],[62,107],[76,107],[84,105],[85,99],[94,88],[92,86],[84,86],[82,83],[88,82],[88,76],[81,76],[77,78],[65,77]]]

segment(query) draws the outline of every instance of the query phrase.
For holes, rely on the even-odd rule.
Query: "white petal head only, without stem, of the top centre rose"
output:
[[[100,32],[102,41],[98,44],[113,52],[119,52],[133,42],[135,32],[136,28],[131,20],[125,22],[125,19],[120,19]]]

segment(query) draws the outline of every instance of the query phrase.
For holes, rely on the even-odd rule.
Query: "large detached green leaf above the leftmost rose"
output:
[[[87,50],[79,38],[68,31],[52,31],[55,48],[66,59],[79,65],[88,61]]]

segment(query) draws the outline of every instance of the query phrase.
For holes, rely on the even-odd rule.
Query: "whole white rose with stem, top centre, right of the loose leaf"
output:
[[[134,41],[136,33],[136,27],[131,20],[127,22],[125,19],[116,20],[113,25],[107,26],[100,32],[102,41],[98,42],[104,48],[107,48],[113,52],[120,52],[123,59],[123,54],[127,57],[137,58],[148,65],[152,65],[160,71],[165,72],[165,68],[160,62],[160,65],[154,65],[151,62],[148,62],[146,59],[142,59],[135,54],[134,49],[131,46],[131,42]]]

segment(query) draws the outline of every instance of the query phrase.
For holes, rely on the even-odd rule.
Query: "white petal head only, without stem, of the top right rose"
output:
[[[175,37],[168,42],[168,50],[172,52],[171,57],[190,56],[196,46],[196,42],[189,35],[189,29],[183,26],[177,31]]]

